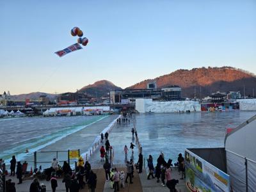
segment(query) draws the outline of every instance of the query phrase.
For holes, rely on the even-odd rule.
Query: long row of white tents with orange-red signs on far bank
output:
[[[105,115],[114,110],[109,106],[92,106],[77,108],[50,108],[44,111],[43,116],[73,116],[73,115]]]

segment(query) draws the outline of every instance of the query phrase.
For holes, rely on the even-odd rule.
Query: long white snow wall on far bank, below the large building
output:
[[[153,102],[152,99],[136,99],[136,110],[140,113],[175,113],[201,111],[201,108],[199,102],[193,100]]]

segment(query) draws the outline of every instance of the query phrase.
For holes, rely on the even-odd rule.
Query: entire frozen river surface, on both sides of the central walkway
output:
[[[177,154],[184,153],[185,148],[223,147],[226,129],[237,127],[253,115],[256,113],[252,111],[153,113],[136,115],[134,123],[144,157],[151,154],[156,161],[162,151],[166,159],[176,161]],[[117,115],[63,116],[0,120],[0,158],[8,159],[12,154],[19,154],[19,160],[29,160],[35,150],[79,148],[81,153],[86,152],[92,147],[93,141],[100,132],[117,117]],[[124,145],[129,147],[129,144],[134,142],[131,134],[132,125],[132,121],[127,125],[115,124],[109,135],[110,144],[115,149],[114,164],[124,163]],[[23,154],[26,148],[29,154]],[[42,154],[40,158],[51,161],[54,156],[56,156],[54,153]],[[135,161],[138,159],[138,148],[133,155],[129,151],[127,158],[130,157]],[[92,156],[90,161],[93,164],[100,163],[99,154]]]

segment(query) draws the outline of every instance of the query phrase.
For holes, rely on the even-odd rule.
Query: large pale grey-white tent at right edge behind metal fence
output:
[[[256,189],[256,115],[226,135],[227,172],[236,191]]]

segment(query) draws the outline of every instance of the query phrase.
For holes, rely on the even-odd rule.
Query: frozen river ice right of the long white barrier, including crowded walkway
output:
[[[175,163],[185,148],[224,147],[226,129],[236,128],[253,115],[256,113],[251,111],[140,114],[135,117],[135,125],[146,159],[151,154],[155,163],[160,152],[164,152],[165,158]],[[131,142],[136,142],[132,139],[132,126],[132,123],[115,125],[109,135],[115,150],[114,164],[122,164],[130,158],[138,161],[138,146],[134,154],[131,150],[126,158],[124,154],[124,145],[129,148]],[[91,162],[102,164],[99,152],[92,156]]]

